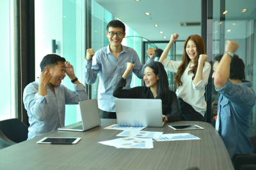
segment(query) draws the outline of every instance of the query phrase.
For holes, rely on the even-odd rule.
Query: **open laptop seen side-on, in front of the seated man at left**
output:
[[[97,99],[81,101],[79,102],[79,106],[81,110],[82,122],[60,127],[58,130],[83,132],[101,124]]]

